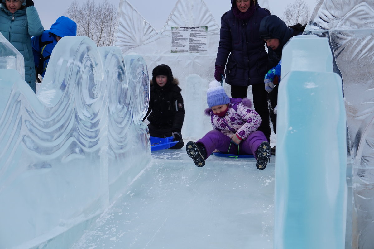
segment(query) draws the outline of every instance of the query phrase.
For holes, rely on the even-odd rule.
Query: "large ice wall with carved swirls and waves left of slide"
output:
[[[150,161],[144,59],[64,37],[37,95],[0,79],[0,248],[69,248]]]

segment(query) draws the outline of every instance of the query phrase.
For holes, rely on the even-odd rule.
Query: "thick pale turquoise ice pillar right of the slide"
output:
[[[344,248],[346,114],[327,38],[283,48],[277,124],[274,248]]]

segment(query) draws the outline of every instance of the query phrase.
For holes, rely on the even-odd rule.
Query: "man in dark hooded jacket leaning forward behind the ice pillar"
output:
[[[266,16],[260,23],[260,37],[266,42],[269,53],[268,70],[275,67],[282,59],[284,45],[293,36],[303,34],[306,25],[296,24],[287,27],[281,18],[275,15]],[[267,82],[265,82],[267,84]],[[274,108],[278,102],[278,84],[272,85],[273,90],[267,95],[269,103],[270,119],[273,123],[273,130],[276,133],[277,115]],[[275,154],[275,150],[274,154]]]

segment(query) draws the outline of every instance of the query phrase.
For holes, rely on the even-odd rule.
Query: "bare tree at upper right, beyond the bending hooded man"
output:
[[[300,23],[304,25],[308,22],[310,16],[309,6],[304,0],[296,0],[294,3],[288,4],[283,12],[283,21],[287,26]]]

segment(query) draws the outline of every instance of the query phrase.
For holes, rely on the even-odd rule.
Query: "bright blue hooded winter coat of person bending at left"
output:
[[[44,77],[50,55],[53,48],[57,44],[56,36],[76,36],[77,24],[67,18],[60,16],[50,30],[45,30],[42,35],[31,38],[31,46],[33,47],[34,64],[37,67],[37,72]]]

